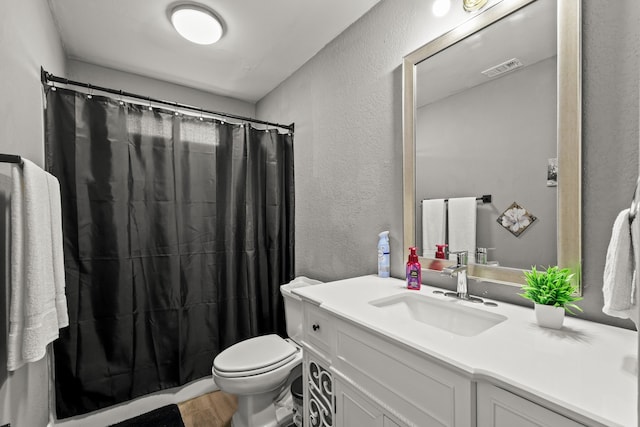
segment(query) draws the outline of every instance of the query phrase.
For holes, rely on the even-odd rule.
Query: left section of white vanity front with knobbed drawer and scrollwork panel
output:
[[[409,348],[304,303],[309,426],[471,427],[473,383]],[[323,396],[331,384],[333,399]],[[325,393],[328,394],[328,393]],[[326,417],[321,404],[333,407]]]

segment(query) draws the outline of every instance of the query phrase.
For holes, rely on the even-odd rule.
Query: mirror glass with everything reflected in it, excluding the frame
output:
[[[447,244],[471,263],[557,264],[555,3],[533,2],[416,66],[423,256]]]

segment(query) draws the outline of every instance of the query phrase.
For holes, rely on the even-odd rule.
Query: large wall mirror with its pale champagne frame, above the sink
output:
[[[435,243],[466,227],[450,249],[470,277],[521,285],[559,265],[580,285],[580,26],[580,0],[505,0],[404,58],[405,258],[417,246],[440,269]],[[447,220],[469,197],[473,226]]]

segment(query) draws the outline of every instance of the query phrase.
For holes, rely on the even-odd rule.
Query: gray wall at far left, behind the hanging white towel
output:
[[[0,1],[0,152],[19,154],[43,166],[43,114],[40,66],[64,74],[64,54],[47,2]],[[8,239],[10,179],[0,166],[0,425],[46,425],[47,364],[43,359],[13,373],[6,371]],[[9,187],[10,188],[10,187]]]

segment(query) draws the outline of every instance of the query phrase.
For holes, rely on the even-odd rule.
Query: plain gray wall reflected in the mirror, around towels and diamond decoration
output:
[[[505,267],[557,264],[557,187],[547,186],[547,161],[556,157],[556,75],[554,56],[417,109],[421,249],[436,249],[422,243],[423,199],[491,194],[492,203],[478,203],[476,247],[494,248],[489,260]],[[518,237],[496,221],[514,201],[537,218]]]

